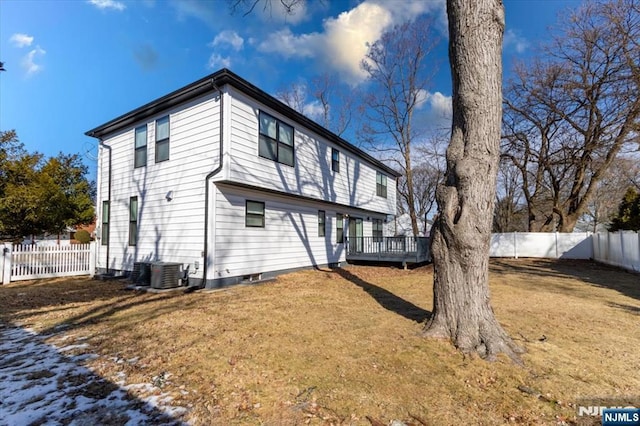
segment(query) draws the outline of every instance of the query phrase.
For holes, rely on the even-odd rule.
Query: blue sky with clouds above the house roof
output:
[[[422,14],[442,37],[425,108],[448,108],[444,0],[308,1],[294,15],[273,4],[243,17],[226,0],[1,0],[0,130],[15,129],[30,151],[82,154],[94,178],[85,131],[222,67],[271,94],[322,72],[362,87],[365,43]],[[505,73],[579,5],[506,0]]]

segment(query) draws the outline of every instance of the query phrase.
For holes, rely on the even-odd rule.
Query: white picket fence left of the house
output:
[[[39,278],[91,275],[95,271],[95,243],[56,246],[2,247],[2,283]]]

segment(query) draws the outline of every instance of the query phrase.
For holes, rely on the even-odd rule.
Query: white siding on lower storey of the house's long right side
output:
[[[209,279],[245,276],[344,262],[336,240],[336,211],[322,203],[296,200],[230,185],[216,185],[214,267]],[[247,200],[265,203],[265,227],[245,227]],[[326,236],[318,236],[318,210],[326,212]],[[371,232],[371,222],[365,225]]]

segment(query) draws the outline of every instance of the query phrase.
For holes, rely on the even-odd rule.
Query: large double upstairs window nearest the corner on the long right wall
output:
[[[260,157],[293,167],[293,127],[260,111]]]

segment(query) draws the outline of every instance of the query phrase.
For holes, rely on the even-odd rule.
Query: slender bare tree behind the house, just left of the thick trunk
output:
[[[393,27],[370,46],[362,68],[368,74],[361,136],[385,160],[398,166],[406,179],[406,205],[414,235],[418,235],[413,149],[419,129],[415,113],[426,100],[431,74],[426,59],[438,39],[431,22],[420,18]]]

